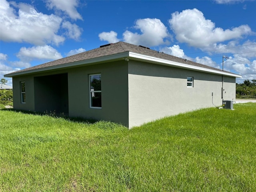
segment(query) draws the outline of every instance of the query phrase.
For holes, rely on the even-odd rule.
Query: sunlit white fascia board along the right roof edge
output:
[[[190,70],[203,71],[203,72],[208,72],[208,73],[212,73],[212,74],[220,74],[220,75],[224,75],[224,76],[240,77],[240,78],[242,77],[241,75],[238,75],[238,74],[230,74],[230,73],[227,73],[225,71],[222,72],[222,71],[216,71],[216,70],[202,68],[202,67],[198,67],[198,66],[192,66],[192,65],[178,63],[178,62],[174,62],[174,61],[170,61],[170,60],[165,60],[165,59],[160,59],[160,58],[156,58],[156,57],[146,56],[146,55],[138,54],[138,53],[134,53],[134,52],[129,52],[129,57],[137,58],[137,59],[140,59],[140,60],[147,60],[147,61],[150,61],[150,62],[155,63],[155,64],[162,64],[162,65],[166,65],[166,66],[186,68],[186,69],[190,69]]]

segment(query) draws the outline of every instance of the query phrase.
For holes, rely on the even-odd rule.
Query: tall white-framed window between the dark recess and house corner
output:
[[[90,108],[101,109],[101,74],[89,75]]]

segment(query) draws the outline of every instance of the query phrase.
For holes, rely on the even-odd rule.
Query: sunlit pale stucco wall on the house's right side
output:
[[[130,128],[164,116],[222,105],[220,75],[137,61],[129,61],[128,73]],[[187,87],[187,76],[194,77],[193,88]],[[226,100],[234,98],[232,82],[235,78],[224,84]]]

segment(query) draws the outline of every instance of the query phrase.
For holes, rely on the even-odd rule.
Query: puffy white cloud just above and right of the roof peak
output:
[[[125,42],[150,47],[166,44],[164,38],[170,37],[166,26],[156,18],[138,19],[136,20],[134,28],[139,29],[141,34],[126,30],[123,33],[123,39]]]

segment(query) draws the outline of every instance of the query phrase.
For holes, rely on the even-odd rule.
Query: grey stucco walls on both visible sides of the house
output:
[[[55,93],[54,86],[47,86],[51,80],[46,79],[48,75],[55,75],[53,78],[55,81],[58,77],[56,74],[61,73],[66,73],[62,81],[65,80],[64,84],[68,86],[55,87],[58,91]],[[89,99],[89,75],[98,73],[101,74],[101,109],[90,108]],[[194,78],[193,88],[187,87],[187,76]],[[21,103],[20,82],[22,81],[26,85],[26,104]],[[224,100],[235,100],[235,82],[235,78],[224,76]],[[59,82],[56,82],[57,86],[58,84]],[[52,92],[52,96],[56,97],[55,101],[60,98],[59,104],[68,105],[70,117],[110,120],[129,128],[181,112],[214,105],[221,106],[221,87],[221,75],[133,60],[13,78],[15,109],[31,111],[53,109],[49,107],[50,97],[48,97],[48,104],[43,105],[45,102],[42,102],[44,99],[42,95],[44,94],[40,93],[45,90],[49,95]],[[60,110],[63,109],[65,110],[65,108],[60,108]]]

